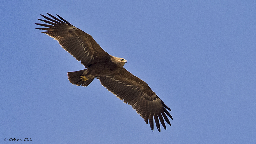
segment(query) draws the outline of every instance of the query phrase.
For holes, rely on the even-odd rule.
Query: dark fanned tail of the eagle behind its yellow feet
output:
[[[68,80],[70,83],[75,84],[77,86],[88,86],[94,78],[88,79],[87,81],[83,81],[80,79],[80,76],[86,71],[84,70],[79,70],[79,71],[73,71],[73,72],[68,72]]]

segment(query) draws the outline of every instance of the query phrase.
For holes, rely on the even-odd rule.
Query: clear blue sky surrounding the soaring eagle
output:
[[[254,143],[256,1],[0,1],[0,143]],[[59,14],[171,108],[149,124],[34,23]],[[8,140],[4,141],[7,138]]]

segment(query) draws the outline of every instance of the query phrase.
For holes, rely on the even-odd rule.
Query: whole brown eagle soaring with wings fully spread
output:
[[[151,90],[146,82],[134,76],[123,66],[127,63],[124,58],[114,57],[105,52],[91,35],[76,28],[67,20],[46,13],[46,20],[38,19],[44,23],[35,23],[46,28],[48,36],[57,40],[62,48],[69,52],[76,60],[81,61],[86,69],[68,72],[70,83],[77,86],[88,86],[95,78],[124,103],[128,103],[145,120],[152,131],[154,131],[154,120],[156,128],[160,132],[159,120],[166,130],[165,122],[171,126],[167,116],[172,116],[166,104]],[[46,23],[46,24],[45,24]],[[166,116],[167,115],[167,116]],[[154,119],[154,120],[153,120]]]

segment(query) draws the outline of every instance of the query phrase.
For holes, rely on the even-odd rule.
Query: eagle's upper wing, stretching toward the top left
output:
[[[100,59],[107,59],[110,57],[110,55],[105,52],[99,44],[96,43],[91,35],[85,33],[79,28],[74,27],[59,15],[57,16],[61,20],[52,16],[51,14],[48,15],[51,16],[54,20],[41,15],[49,21],[38,19],[47,24],[36,23],[37,25],[48,28],[36,29],[46,30],[42,33],[45,33],[57,40],[62,48],[64,48],[73,57],[75,57],[76,60],[81,61],[85,68],[88,68],[91,64],[96,63]]]

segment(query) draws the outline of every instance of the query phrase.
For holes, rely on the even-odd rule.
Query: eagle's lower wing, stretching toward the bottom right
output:
[[[101,84],[110,92],[115,94],[124,103],[128,103],[136,110],[138,114],[150,124],[150,128],[154,130],[154,120],[156,127],[160,132],[159,120],[166,129],[164,119],[167,124],[171,125],[167,116],[172,119],[170,110],[162,100],[153,92],[147,83],[132,75],[125,68],[121,68],[118,74],[98,78]],[[167,116],[166,116],[167,115]],[[163,119],[164,117],[164,119]],[[159,118],[159,120],[158,120]]]

